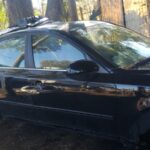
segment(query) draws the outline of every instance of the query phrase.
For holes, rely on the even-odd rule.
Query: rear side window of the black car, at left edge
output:
[[[25,67],[25,37],[0,41],[0,67]]]

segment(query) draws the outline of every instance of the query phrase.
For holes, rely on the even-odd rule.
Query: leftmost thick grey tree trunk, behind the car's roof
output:
[[[6,0],[9,25],[15,25],[21,18],[33,16],[31,0]]]

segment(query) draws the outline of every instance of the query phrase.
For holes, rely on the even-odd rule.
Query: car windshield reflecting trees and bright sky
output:
[[[69,33],[95,49],[116,68],[129,68],[150,57],[150,40],[104,22],[76,23]]]

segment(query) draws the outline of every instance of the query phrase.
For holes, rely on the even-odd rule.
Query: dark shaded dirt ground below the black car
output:
[[[112,141],[75,132],[12,119],[0,121],[0,150],[116,150],[118,147]]]

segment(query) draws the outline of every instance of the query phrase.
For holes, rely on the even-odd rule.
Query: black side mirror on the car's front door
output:
[[[98,72],[99,66],[88,60],[78,60],[68,67],[68,74],[92,73]]]

